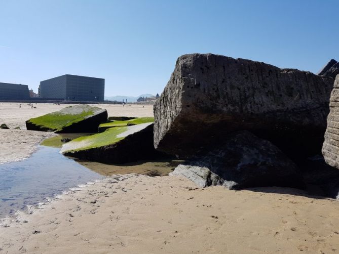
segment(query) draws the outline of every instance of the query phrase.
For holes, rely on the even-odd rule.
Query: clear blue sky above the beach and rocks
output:
[[[0,82],[105,78],[161,93],[176,59],[214,53],[317,72],[339,61],[337,0],[0,0]]]

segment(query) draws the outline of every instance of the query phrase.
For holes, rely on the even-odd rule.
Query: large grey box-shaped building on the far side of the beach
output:
[[[40,82],[40,97],[67,101],[103,101],[105,79],[62,75]]]

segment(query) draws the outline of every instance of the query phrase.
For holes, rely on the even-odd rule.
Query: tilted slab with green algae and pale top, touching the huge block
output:
[[[61,148],[66,156],[103,163],[126,163],[157,159],[163,154],[153,145],[153,122],[107,129],[74,139]]]

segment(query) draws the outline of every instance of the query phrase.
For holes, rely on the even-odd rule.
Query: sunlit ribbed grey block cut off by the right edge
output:
[[[339,168],[339,75],[334,81],[329,108],[322,154],[327,164]]]

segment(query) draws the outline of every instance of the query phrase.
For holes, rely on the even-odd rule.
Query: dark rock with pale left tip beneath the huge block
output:
[[[297,166],[286,155],[247,131],[229,135],[225,145],[180,164],[171,175],[183,175],[200,187],[303,186]]]

